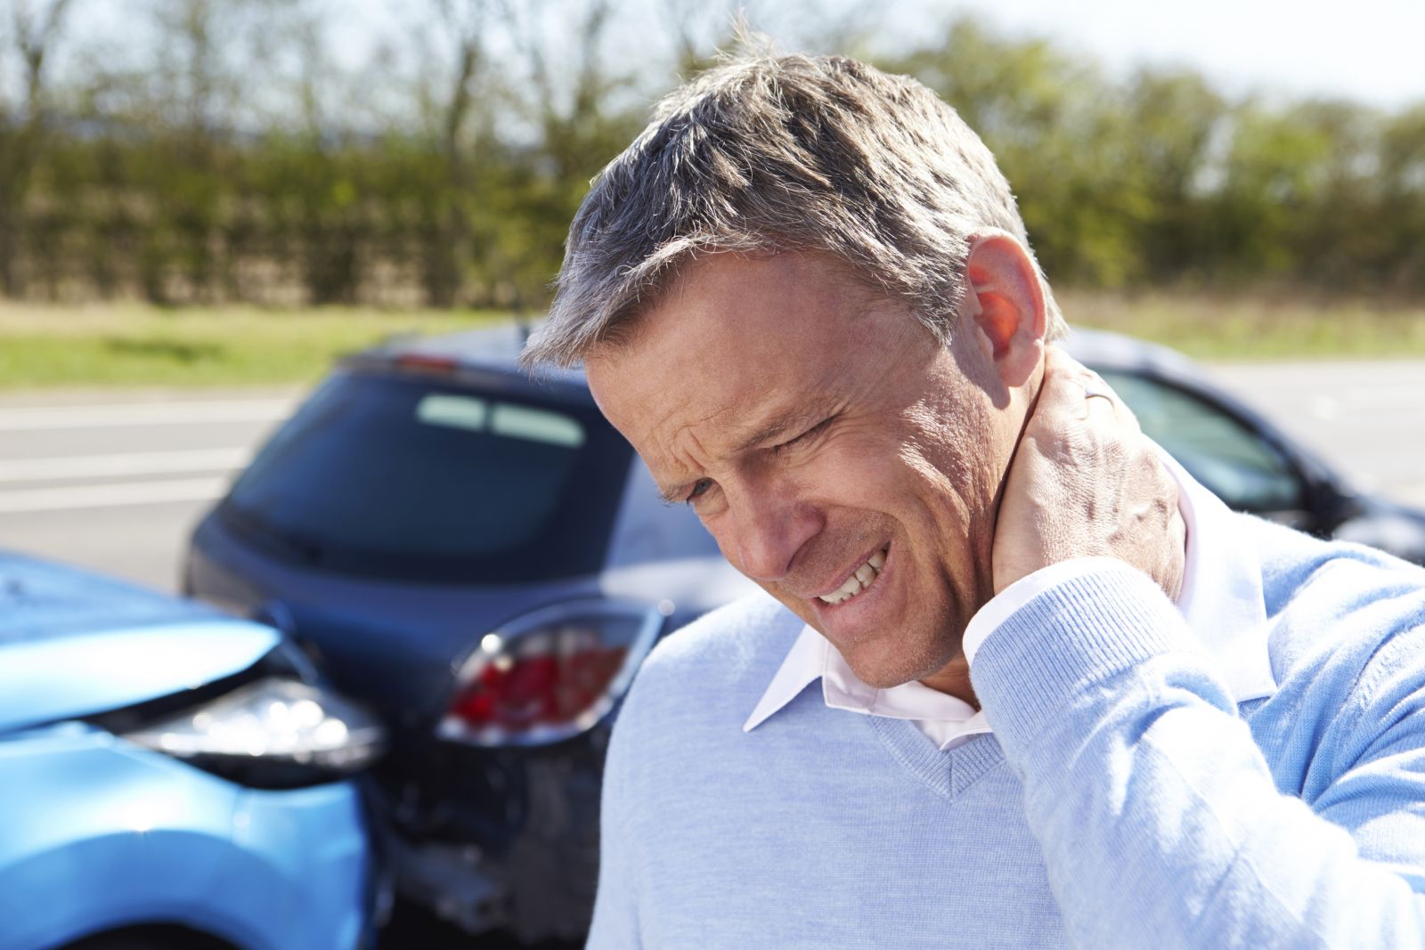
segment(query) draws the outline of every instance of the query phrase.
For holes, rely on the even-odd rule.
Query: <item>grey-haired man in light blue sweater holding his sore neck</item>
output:
[[[1060,333],[859,63],[714,68],[596,181],[527,359],[767,595],[627,698],[591,947],[1425,946],[1425,575],[1228,513]]]

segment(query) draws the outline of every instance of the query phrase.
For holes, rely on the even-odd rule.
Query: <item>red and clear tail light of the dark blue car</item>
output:
[[[661,627],[657,608],[607,600],[526,614],[465,661],[439,735],[475,745],[577,735],[624,694]]]

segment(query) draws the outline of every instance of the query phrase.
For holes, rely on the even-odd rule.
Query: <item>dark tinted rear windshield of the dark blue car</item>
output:
[[[442,583],[601,567],[631,449],[591,404],[339,372],[221,508],[291,561]]]

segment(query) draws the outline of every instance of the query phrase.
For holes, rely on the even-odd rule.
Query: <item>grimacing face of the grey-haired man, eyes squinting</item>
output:
[[[935,685],[993,593],[995,506],[1023,417],[963,323],[946,348],[831,258],[718,254],[586,367],[734,567],[865,682]]]

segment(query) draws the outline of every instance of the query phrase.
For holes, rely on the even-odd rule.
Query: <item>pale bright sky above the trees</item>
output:
[[[616,58],[653,56],[647,37],[657,36],[665,20],[660,4],[670,1],[690,0],[618,1]],[[412,23],[426,9],[426,0],[319,3],[335,27],[336,58],[353,67],[383,33],[402,28],[402,21]],[[701,3],[731,9],[738,0]],[[1196,68],[1228,95],[1347,98],[1385,110],[1425,103],[1425,0],[802,0],[799,6],[747,0],[754,26],[762,26],[758,10],[775,20],[772,11],[781,9],[799,17],[807,9],[835,11],[866,3],[876,4],[871,23],[892,48],[935,36],[970,14],[1006,36],[1049,38],[1066,51],[1093,54],[1110,71],[1144,64]],[[84,0],[76,7],[83,11],[77,26],[123,43],[134,34],[135,4],[141,7],[142,0]],[[784,46],[795,44],[777,36],[775,27],[768,31]]]

